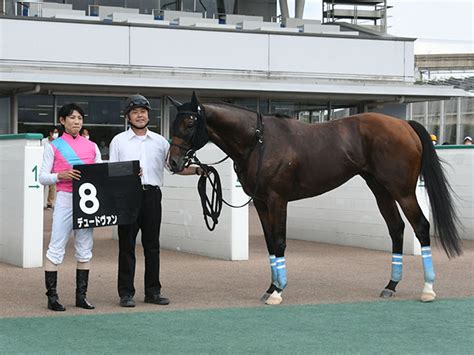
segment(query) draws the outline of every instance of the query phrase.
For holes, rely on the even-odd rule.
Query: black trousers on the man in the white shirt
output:
[[[140,213],[135,223],[118,226],[119,235],[119,296],[135,295],[135,244],[138,230],[142,232],[145,254],[145,295],[161,292],[160,283],[161,190],[143,191]]]

